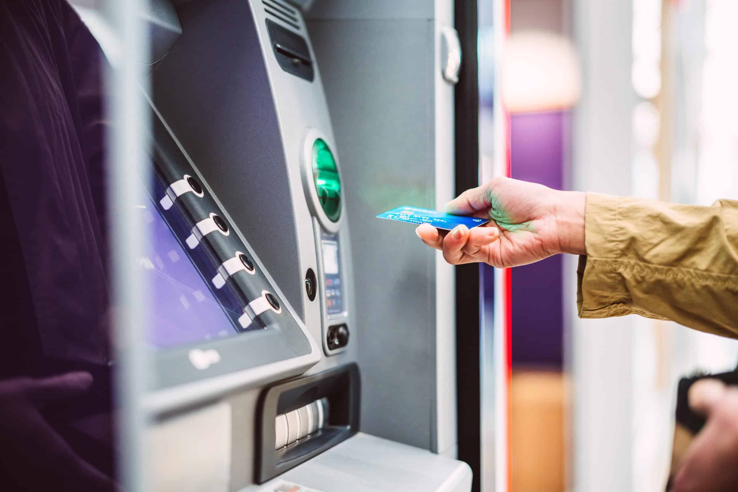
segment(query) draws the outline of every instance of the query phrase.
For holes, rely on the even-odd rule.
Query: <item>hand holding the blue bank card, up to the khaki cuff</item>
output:
[[[485,262],[508,268],[558,253],[585,254],[584,202],[584,193],[495,178],[446,204],[448,213],[489,218],[488,224],[450,232],[422,224],[415,233],[454,265]]]

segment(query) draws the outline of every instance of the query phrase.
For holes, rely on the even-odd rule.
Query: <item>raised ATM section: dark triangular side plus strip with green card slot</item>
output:
[[[281,8],[287,13],[276,16],[262,2],[181,4],[182,35],[152,75],[154,106],[206,179],[218,182],[238,227],[257,232],[249,241],[325,354],[348,351],[342,358],[350,360],[355,344],[328,339],[339,327],[351,337],[356,326],[337,146],[303,21],[294,7]],[[288,24],[286,15],[297,20]],[[332,172],[314,170],[331,164]],[[336,183],[338,190],[329,186]]]

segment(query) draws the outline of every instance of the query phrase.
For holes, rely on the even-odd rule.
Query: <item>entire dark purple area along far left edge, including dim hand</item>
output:
[[[4,491],[115,488],[103,63],[66,1],[0,1]]]

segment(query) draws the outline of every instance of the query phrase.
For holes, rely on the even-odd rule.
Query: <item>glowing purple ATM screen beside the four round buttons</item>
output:
[[[155,193],[163,196],[164,187],[156,187]],[[237,335],[241,330],[236,320],[243,313],[238,306],[243,302],[227,287],[215,296],[205,280],[217,271],[212,261],[212,271],[201,274],[208,263],[201,251],[204,246],[194,250],[183,246],[162,216],[165,213],[170,223],[177,226],[176,214],[181,212],[176,207],[164,212],[151,197],[139,206],[139,211],[150,234],[145,254],[139,260],[150,294],[148,344],[162,349]]]

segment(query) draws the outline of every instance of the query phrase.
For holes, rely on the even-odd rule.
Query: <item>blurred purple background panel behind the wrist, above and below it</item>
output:
[[[565,128],[561,111],[511,116],[511,173],[561,190]],[[512,363],[562,368],[562,256],[512,269]]]

